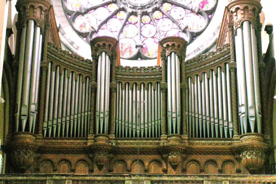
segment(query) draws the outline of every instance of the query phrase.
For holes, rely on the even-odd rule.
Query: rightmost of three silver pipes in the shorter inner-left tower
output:
[[[104,84],[105,84],[105,102],[104,102],[104,124],[105,124],[105,134],[107,134],[107,125],[108,125],[108,119],[109,119],[109,98],[108,98],[108,95],[109,95],[109,56],[105,53],[105,81],[104,81]],[[122,87],[122,84],[121,84],[121,87]],[[122,91],[121,91],[122,92]],[[120,93],[121,93],[120,92]]]

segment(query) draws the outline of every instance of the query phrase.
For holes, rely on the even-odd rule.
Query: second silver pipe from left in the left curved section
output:
[[[48,136],[49,137],[51,136],[52,126],[53,126],[55,78],[56,78],[56,71],[52,71],[51,89],[50,89],[50,104],[49,104],[49,119],[48,119]]]

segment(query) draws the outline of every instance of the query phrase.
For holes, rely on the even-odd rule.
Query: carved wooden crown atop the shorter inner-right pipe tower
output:
[[[166,53],[166,56],[168,56],[171,52],[175,52],[181,59],[185,59],[187,41],[184,38],[169,36],[162,38],[159,43],[161,45],[161,53],[163,53],[163,55]]]

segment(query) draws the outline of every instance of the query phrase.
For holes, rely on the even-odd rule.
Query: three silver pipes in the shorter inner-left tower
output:
[[[108,134],[109,123],[110,58],[102,52],[98,58],[96,134]]]

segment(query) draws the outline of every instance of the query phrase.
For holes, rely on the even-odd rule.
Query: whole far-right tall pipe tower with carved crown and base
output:
[[[257,40],[259,24],[257,17],[261,11],[261,4],[260,0],[232,0],[228,4],[228,10],[234,22],[237,94],[239,94],[238,109],[242,134],[240,143],[236,146],[236,153],[240,154],[240,162],[250,174],[260,174],[268,148],[261,134],[262,110],[259,66],[262,60],[258,54],[260,48],[258,48]],[[235,70],[232,59],[233,57],[231,57],[231,73]]]

